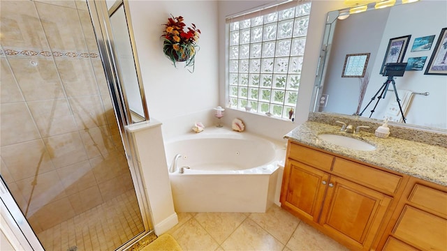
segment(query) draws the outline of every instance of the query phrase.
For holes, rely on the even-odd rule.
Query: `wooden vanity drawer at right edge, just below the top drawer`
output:
[[[447,220],[406,205],[393,235],[422,250],[447,250]]]

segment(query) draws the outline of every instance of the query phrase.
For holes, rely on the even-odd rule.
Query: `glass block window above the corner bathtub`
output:
[[[301,7],[305,8],[306,11],[302,15],[295,14],[295,10],[298,10],[297,7],[299,6],[307,6]],[[249,25],[247,27],[242,27],[242,21],[245,20],[254,20],[256,17],[263,17],[265,19],[265,15],[276,13],[277,16],[279,16],[279,13],[283,10],[289,10],[291,8],[295,8],[293,10],[293,17],[288,18],[277,18],[277,20],[274,20],[274,22],[262,22],[262,24],[256,24],[256,25]],[[283,119],[283,120],[292,120],[295,116],[294,112],[298,103],[298,93],[299,93],[299,80],[302,75],[301,73],[301,67],[304,59],[305,54],[305,41],[307,40],[307,29],[309,26],[309,17],[310,17],[310,10],[312,8],[310,1],[300,1],[300,2],[288,2],[288,3],[281,3],[280,5],[268,7],[268,8],[259,8],[258,10],[248,10],[245,13],[242,13],[240,15],[236,15],[233,17],[227,17],[226,18],[226,91],[225,91],[225,98],[226,98],[226,108],[227,109],[236,109],[244,112],[252,112],[254,114],[261,114],[261,115],[267,115],[271,116],[275,119]],[[305,20],[305,32],[302,34],[294,34],[295,33],[295,26],[298,24],[299,20]],[[235,23],[239,22],[240,27],[239,29],[231,29],[230,26]],[[266,26],[269,24],[274,24],[275,27],[278,27],[280,23],[286,24],[291,23],[291,35],[285,36],[281,38],[277,38],[278,32],[275,32],[274,39],[265,39],[264,33],[262,34],[261,40],[254,40],[253,39],[253,29],[258,29],[261,27],[262,29],[265,29]],[[249,41],[242,42],[240,38],[238,39],[237,43],[231,43],[232,33],[241,34],[241,32],[250,31]],[[239,35],[240,36],[240,35]],[[292,48],[292,44],[295,41],[302,40],[304,41],[304,45],[301,47],[300,54],[291,54],[290,50]],[[274,43],[277,45],[281,41],[288,41],[289,42],[289,52],[286,55],[279,56],[277,55],[277,49],[275,46],[275,49],[273,51],[273,56],[265,56],[263,47],[265,44],[268,43]],[[295,44],[296,45],[296,44]],[[253,52],[251,52],[251,47],[258,46],[261,47],[261,56],[253,56]],[[237,58],[235,58],[232,54],[232,50],[237,47]],[[249,47],[249,52],[247,52],[247,55],[241,56],[241,48],[242,47]],[[245,51],[244,51],[245,52]],[[292,64],[292,59],[295,60],[294,63],[297,64],[298,62],[298,70],[296,72],[291,72],[290,70],[277,70],[276,68],[272,68],[270,71],[265,71],[261,69],[262,63],[264,61],[271,61],[271,64],[276,65],[278,63],[286,64],[287,68],[289,65]],[[237,61],[237,63],[235,63]],[[253,62],[258,61],[258,70],[251,71],[251,66]],[[244,67],[244,70],[241,71],[241,62],[242,67]],[[237,70],[235,70],[237,68]],[[235,75],[237,75],[237,82],[235,80]],[[263,77],[270,76],[271,78],[271,84],[270,86],[263,86]],[[242,78],[241,78],[242,77]],[[258,79],[254,79],[254,77],[257,77]],[[290,86],[291,79],[295,77],[296,81],[296,87],[293,88]],[[277,79],[277,80],[275,80]],[[257,84],[251,84],[251,82],[257,81]],[[278,84],[279,82],[283,82],[283,84],[274,86],[275,84]],[[266,87],[266,88],[263,88]],[[267,100],[268,91],[270,91],[270,97]],[[235,94],[237,92],[237,94]],[[265,94],[265,99],[263,99],[262,94]],[[241,96],[243,95],[243,97]],[[275,98],[275,95],[277,98]],[[290,97],[293,96],[293,97]],[[237,104],[235,104],[235,100],[237,100]],[[293,100],[293,102],[288,102],[288,100]],[[251,103],[251,104],[250,104]],[[249,105],[250,104],[250,105]],[[261,104],[268,105],[268,111],[265,112],[261,109]],[[242,107],[243,105],[249,105],[248,109],[244,109]],[[252,107],[254,105],[257,105],[255,109]],[[273,107],[276,107],[276,110],[273,110]],[[279,108],[281,109],[281,113],[279,113]],[[290,113],[290,110],[292,109],[292,113]],[[292,114],[292,115],[291,115]]]

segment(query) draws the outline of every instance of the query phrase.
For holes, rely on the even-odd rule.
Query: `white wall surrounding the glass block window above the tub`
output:
[[[261,6],[272,1],[219,1],[219,105],[226,105],[226,47],[225,17],[244,10]],[[223,121],[230,126],[234,118],[240,118],[246,124],[247,131],[281,139],[287,132],[307,121],[312,91],[315,82],[316,66],[321,49],[321,40],[328,11],[343,8],[343,1],[312,1],[307,42],[302,65],[298,105],[295,109],[295,123],[272,119],[261,114],[250,114],[235,109],[226,109]]]

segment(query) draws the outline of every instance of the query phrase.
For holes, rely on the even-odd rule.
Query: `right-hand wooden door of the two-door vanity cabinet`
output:
[[[392,198],[343,178],[332,176],[320,225],[358,249],[368,248]]]

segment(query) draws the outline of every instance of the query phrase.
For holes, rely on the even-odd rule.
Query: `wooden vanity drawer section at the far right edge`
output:
[[[383,250],[447,250],[447,188],[411,177],[381,238]]]

